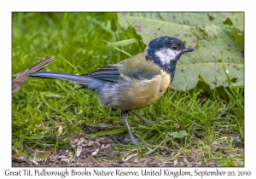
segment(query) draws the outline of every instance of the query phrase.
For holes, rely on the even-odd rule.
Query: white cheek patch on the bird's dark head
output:
[[[170,61],[174,61],[177,55],[180,54],[180,51],[175,51],[172,49],[160,49],[159,51],[154,52],[154,54],[160,58],[160,63],[162,65],[170,64]]]

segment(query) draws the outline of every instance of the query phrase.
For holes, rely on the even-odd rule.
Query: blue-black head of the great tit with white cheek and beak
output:
[[[195,49],[185,46],[177,38],[164,36],[150,41],[145,50],[148,54],[146,55],[146,60],[154,61],[156,65],[163,68],[166,72],[174,73],[180,56]]]

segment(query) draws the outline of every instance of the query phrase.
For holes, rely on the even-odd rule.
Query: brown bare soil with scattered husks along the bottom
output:
[[[160,153],[150,153],[146,157],[137,157],[131,153],[124,159],[119,159],[117,142],[124,142],[122,136],[103,136],[100,139],[89,140],[78,137],[70,142],[70,149],[54,147],[33,148],[28,153],[17,156],[13,152],[13,167],[209,167],[218,166],[217,161],[203,162],[197,153],[182,153],[174,157],[173,149]],[[76,150],[72,149],[76,148]],[[120,149],[121,150],[121,149]],[[139,149],[137,149],[139,150]],[[76,151],[76,153],[75,153]],[[108,159],[108,160],[106,160]],[[112,159],[112,161],[109,159]],[[118,160],[114,160],[118,159]]]

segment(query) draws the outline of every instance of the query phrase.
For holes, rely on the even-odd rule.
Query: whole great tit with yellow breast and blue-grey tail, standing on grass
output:
[[[81,75],[32,72],[28,76],[67,80],[95,91],[103,105],[121,110],[121,118],[129,133],[129,138],[125,138],[125,141],[140,145],[141,142],[131,133],[127,122],[128,113],[134,114],[148,125],[148,120],[135,110],[147,107],[165,93],[173,81],[176,64],[181,55],[194,50],[177,38],[164,36],[151,40],[142,53],[98,68],[95,72]]]

